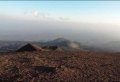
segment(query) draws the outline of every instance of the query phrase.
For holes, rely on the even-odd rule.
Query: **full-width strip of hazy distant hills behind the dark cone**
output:
[[[120,41],[112,41],[104,44],[90,44],[89,42],[71,41],[65,38],[57,38],[48,41],[0,41],[0,52],[13,52],[27,43],[40,47],[57,46],[63,50],[84,50],[95,52],[120,52]],[[89,45],[90,44],[90,45]]]

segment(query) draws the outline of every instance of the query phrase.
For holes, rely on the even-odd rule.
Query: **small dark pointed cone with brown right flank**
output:
[[[24,52],[24,51],[42,51],[42,48],[34,45],[34,44],[26,44],[23,47],[19,48],[18,50],[16,50],[17,52]]]

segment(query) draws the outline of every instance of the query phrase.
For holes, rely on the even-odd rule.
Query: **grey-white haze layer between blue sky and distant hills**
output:
[[[39,13],[33,13],[38,16]],[[75,23],[68,21],[23,20],[0,16],[0,40],[51,40],[59,36],[83,43],[105,43],[120,40],[119,27],[104,24]],[[66,20],[66,19],[62,19]]]

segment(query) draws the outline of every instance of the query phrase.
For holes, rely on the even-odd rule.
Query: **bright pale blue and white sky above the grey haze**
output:
[[[0,1],[0,14],[120,24],[119,1]]]

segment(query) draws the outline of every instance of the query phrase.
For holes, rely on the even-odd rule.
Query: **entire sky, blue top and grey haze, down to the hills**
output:
[[[120,1],[0,1],[0,40],[120,40]]]

